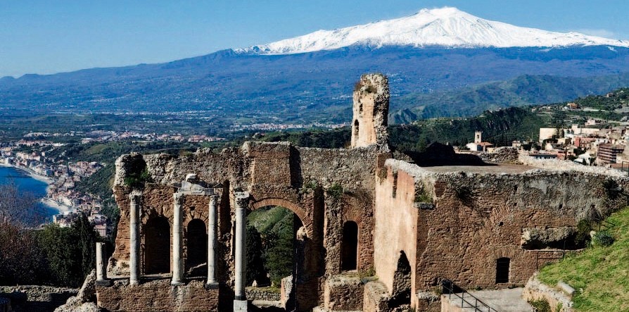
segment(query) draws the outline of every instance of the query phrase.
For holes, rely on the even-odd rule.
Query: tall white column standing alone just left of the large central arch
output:
[[[234,312],[247,311],[247,297],[245,294],[245,284],[247,276],[247,206],[249,193],[236,192],[236,283],[234,286]]]

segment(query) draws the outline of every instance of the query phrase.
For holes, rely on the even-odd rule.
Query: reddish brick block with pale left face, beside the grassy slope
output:
[[[609,198],[606,181],[628,187],[627,178],[578,171],[434,173],[394,160],[388,160],[387,166],[387,181],[376,186],[376,272],[390,285],[393,251],[381,252],[381,246],[400,240],[394,231],[379,230],[380,224],[390,223],[384,217],[391,216],[380,211],[398,209],[394,214],[398,216],[399,211],[417,206],[417,227],[403,225],[417,233],[416,243],[411,244],[417,246],[417,260],[409,256],[417,289],[431,289],[441,278],[463,287],[523,285],[539,266],[561,257],[559,251],[523,248],[524,229],[575,227],[592,213],[609,213],[622,204]],[[434,208],[422,209],[410,195],[404,201],[386,199],[393,192],[395,170],[398,196],[402,192],[419,198],[428,193]],[[389,258],[379,261],[381,256]],[[496,260],[502,257],[511,259],[509,283],[496,285]]]

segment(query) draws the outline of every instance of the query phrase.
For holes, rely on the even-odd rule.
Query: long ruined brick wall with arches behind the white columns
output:
[[[144,261],[147,222],[152,218],[165,218],[172,231],[172,194],[177,192],[186,175],[193,173],[199,183],[222,189],[217,216],[218,280],[227,285],[234,282],[234,213],[231,207],[234,200],[231,196],[235,190],[244,190],[250,194],[250,209],[284,206],[302,221],[305,236],[300,240],[302,247],[299,249],[303,261],[297,260],[296,297],[302,304],[316,306],[322,302],[326,276],[341,273],[345,222],[354,221],[359,226],[358,269],[367,270],[373,266],[374,177],[376,167],[383,165],[387,156],[374,146],[350,150],[308,149],[288,143],[265,142],[247,142],[241,149],[225,149],[221,154],[200,150],[179,157],[165,154],[122,156],[117,161],[114,186],[121,218],[116,250],[108,271],[119,276],[129,273],[129,194],[132,187],[126,185],[125,179],[144,168],[150,175],[144,185],[135,187],[141,192],[141,261]],[[340,189],[340,193],[331,195],[330,189]],[[188,254],[187,225],[191,220],[199,219],[207,227],[208,201],[208,196],[183,196],[184,261]],[[170,236],[170,232],[167,235]],[[142,268],[145,264],[142,262]]]

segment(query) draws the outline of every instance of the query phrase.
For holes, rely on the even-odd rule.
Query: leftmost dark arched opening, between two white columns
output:
[[[146,274],[170,273],[170,223],[164,217],[146,222],[144,270]]]

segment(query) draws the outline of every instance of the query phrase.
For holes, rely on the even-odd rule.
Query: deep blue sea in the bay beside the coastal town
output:
[[[25,171],[13,167],[0,167],[0,185],[6,185],[14,183],[18,187],[20,192],[29,192],[36,196],[37,199],[42,199],[46,196],[46,182],[39,181],[31,177]],[[38,202],[37,205],[44,208],[44,214],[46,221],[52,221],[52,216],[59,213],[59,211],[51,206],[48,206],[42,202]]]

